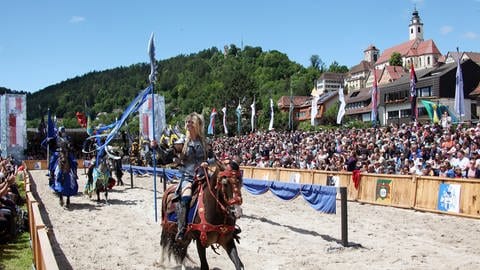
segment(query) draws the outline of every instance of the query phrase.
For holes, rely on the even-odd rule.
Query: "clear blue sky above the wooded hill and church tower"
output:
[[[314,54],[351,67],[370,44],[407,41],[415,6],[443,54],[480,52],[480,0],[0,0],[0,86],[36,92],[148,62],[152,32],[158,60],[243,42],[305,67]]]

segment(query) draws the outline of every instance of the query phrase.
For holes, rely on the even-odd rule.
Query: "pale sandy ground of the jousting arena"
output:
[[[160,222],[155,222],[153,177],[124,176],[109,205],[80,194],[60,207],[46,171],[31,171],[34,190],[60,269],[180,269],[159,264]],[[80,175],[83,191],[85,175]],[[159,182],[159,179],[157,178]],[[158,220],[162,184],[157,184]],[[272,193],[243,191],[244,216],[237,245],[245,269],[480,269],[480,220],[348,203],[349,247],[343,247],[337,214],[316,212],[302,197],[283,201]],[[199,269],[195,245],[189,254]],[[211,269],[233,269],[221,250],[207,250]]]

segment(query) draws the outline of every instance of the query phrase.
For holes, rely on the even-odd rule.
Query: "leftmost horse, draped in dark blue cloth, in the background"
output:
[[[77,164],[67,147],[59,148],[52,157],[53,179],[50,187],[58,194],[59,203],[64,205],[63,197],[67,197],[66,207],[70,207],[70,196],[78,193]]]

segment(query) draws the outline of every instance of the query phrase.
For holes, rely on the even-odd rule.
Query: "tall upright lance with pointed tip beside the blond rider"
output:
[[[150,41],[148,42],[148,56],[150,57],[150,75],[148,79],[150,80],[150,85],[152,86],[152,129],[153,129],[153,141],[156,141],[155,138],[155,79],[157,75],[156,63],[155,63],[155,40],[154,34],[150,36]],[[156,151],[156,149],[154,149]],[[157,157],[156,153],[153,153],[153,202],[155,207],[155,222],[157,222]]]

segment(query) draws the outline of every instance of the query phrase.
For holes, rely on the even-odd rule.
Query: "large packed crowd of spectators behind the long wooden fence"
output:
[[[239,156],[245,166],[480,177],[480,123],[257,132],[212,146],[218,158]]]

